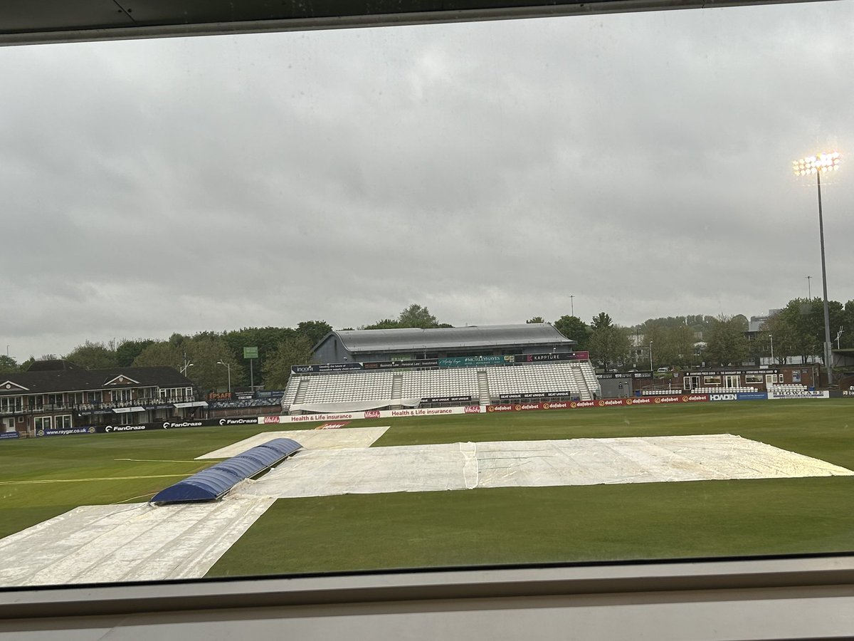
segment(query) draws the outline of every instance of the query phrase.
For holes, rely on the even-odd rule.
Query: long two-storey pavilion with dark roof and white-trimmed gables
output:
[[[84,369],[37,361],[0,374],[0,432],[44,436],[80,426],[184,418],[197,407],[193,384],[173,368]]]

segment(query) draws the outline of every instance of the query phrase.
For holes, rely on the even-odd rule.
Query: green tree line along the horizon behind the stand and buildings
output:
[[[828,304],[831,338],[839,347],[854,347],[854,301]],[[546,322],[541,316],[528,323]],[[802,362],[822,355],[824,312],[820,298],[794,298],[761,330],[747,337],[744,315],[686,315],[648,319],[636,326],[620,326],[611,315],[600,312],[589,323],[575,315],[563,315],[550,323],[566,338],[576,341],[576,350],[586,350],[601,368],[646,369],[660,366],[688,368],[740,365],[773,356],[785,363],[790,357]],[[439,322],[430,310],[409,305],[396,318],[385,318],[359,329],[401,327],[451,327]],[[345,329],[353,329],[348,327]],[[842,330],[839,333],[839,330]],[[326,321],[301,321],[295,327],[244,327],[227,332],[198,332],[191,336],[174,333],[167,340],[124,339],[118,343],[85,341],[64,360],[87,369],[168,366],[183,370],[201,391],[224,389],[231,371],[231,387],[248,387],[250,364],[243,358],[244,347],[257,347],[252,363],[254,385],[283,389],[292,365],[311,362],[312,350],[332,331]],[[837,338],[837,334],[839,337]],[[652,343],[652,363],[649,344]],[[42,356],[56,358],[54,355]],[[0,356],[0,373],[26,371],[34,362],[15,362]]]

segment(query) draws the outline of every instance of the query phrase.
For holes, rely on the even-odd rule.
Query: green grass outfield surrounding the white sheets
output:
[[[849,399],[351,424],[372,425],[391,426],[375,447],[723,432],[854,469],[854,402]],[[282,429],[293,427],[0,442],[0,537],[78,505],[143,502],[211,464],[194,457]],[[854,477],[495,488],[280,499],[208,576],[852,550]]]

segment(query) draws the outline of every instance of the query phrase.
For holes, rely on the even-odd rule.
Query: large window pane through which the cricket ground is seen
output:
[[[27,409],[0,441],[0,551],[84,505],[138,550],[79,573],[39,550],[38,580],[174,578],[114,560],[190,567],[200,541],[194,577],[854,550],[852,20],[0,49],[0,297],[23,302],[0,380],[26,389],[0,413]],[[784,369],[804,384],[769,391]],[[122,529],[272,435],[303,449],[209,518]],[[25,562],[0,553],[0,586]]]

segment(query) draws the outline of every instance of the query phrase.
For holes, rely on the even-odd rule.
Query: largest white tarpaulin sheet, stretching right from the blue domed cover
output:
[[[309,450],[242,485],[238,494],[321,497],[851,474],[828,462],[731,434],[575,438]]]

